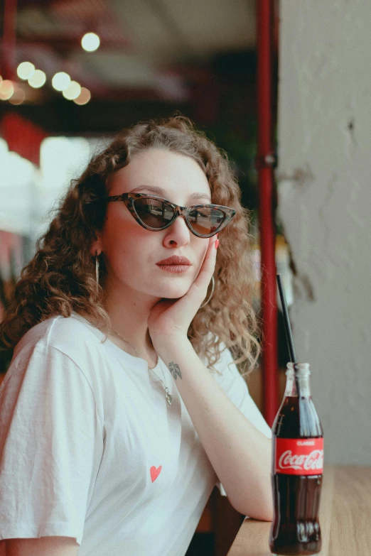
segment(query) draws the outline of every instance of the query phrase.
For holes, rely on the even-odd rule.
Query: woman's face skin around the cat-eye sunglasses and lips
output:
[[[161,187],[161,192],[151,187]],[[158,148],[136,154],[111,176],[109,195],[124,192],[157,195],[183,207],[211,202],[208,180],[195,160]],[[180,298],[197,278],[208,244],[208,238],[192,234],[182,216],[164,230],[151,231],[136,222],[124,202],[108,202],[104,227],[91,253],[103,251],[108,295],[116,290]],[[173,255],[189,259],[187,271],[168,272],[156,264]]]

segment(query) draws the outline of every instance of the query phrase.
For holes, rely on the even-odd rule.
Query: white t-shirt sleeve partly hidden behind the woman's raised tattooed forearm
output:
[[[224,348],[225,344],[220,344],[220,349],[223,349],[223,351],[220,356],[220,360],[214,365],[218,371],[222,372],[222,376],[213,374],[214,378],[225,391],[228,398],[230,398],[230,400],[250,421],[250,423],[257,427],[257,429],[262,432],[264,436],[271,438],[271,427],[269,427],[262,413],[260,413],[257,404],[250,396],[247,383],[241,376],[240,371],[237,369],[237,365],[232,363],[228,367],[228,364],[233,361],[233,357],[230,350]],[[219,480],[217,480],[215,485],[220,490],[220,494],[222,494],[222,496],[227,496],[227,493]]]

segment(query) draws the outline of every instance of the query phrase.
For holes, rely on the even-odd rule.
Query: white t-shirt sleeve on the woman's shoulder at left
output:
[[[39,343],[23,351],[0,387],[0,539],[80,545],[102,457],[95,397],[66,354]]]

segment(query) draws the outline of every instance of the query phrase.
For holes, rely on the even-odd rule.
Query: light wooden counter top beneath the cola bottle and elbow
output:
[[[371,555],[371,467],[323,468],[321,556]],[[227,556],[271,556],[271,523],[246,518]]]

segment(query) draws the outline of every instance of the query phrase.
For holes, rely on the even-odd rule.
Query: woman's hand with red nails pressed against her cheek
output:
[[[156,349],[163,342],[174,337],[187,339],[188,328],[196,312],[208,293],[208,286],[215,270],[215,241],[217,235],[209,238],[203,265],[197,278],[183,297],[158,301],[148,318],[149,334]]]

